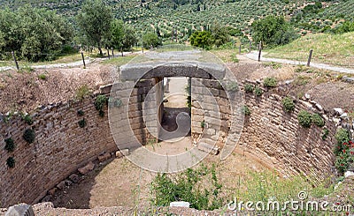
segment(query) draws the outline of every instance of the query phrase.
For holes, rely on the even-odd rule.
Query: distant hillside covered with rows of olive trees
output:
[[[321,31],[326,26],[335,27],[343,20],[353,19],[354,0],[324,1],[322,8],[313,9],[314,1],[301,0],[105,0],[112,6],[116,18],[132,24],[137,32],[157,31],[165,38],[177,29],[179,38],[187,39],[189,32],[203,30],[219,24],[249,33],[250,23],[266,15],[283,15],[294,22],[298,33]],[[81,9],[82,0],[26,0],[0,1],[0,7],[15,10],[23,4],[57,10],[73,20]],[[306,5],[310,6],[305,7]]]

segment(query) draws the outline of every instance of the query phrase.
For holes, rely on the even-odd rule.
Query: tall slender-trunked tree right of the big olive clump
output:
[[[81,40],[81,42],[98,48],[102,56],[104,40],[111,36],[112,20],[113,14],[110,6],[100,0],[86,0],[81,6],[81,11],[76,16],[81,36],[85,39]]]

